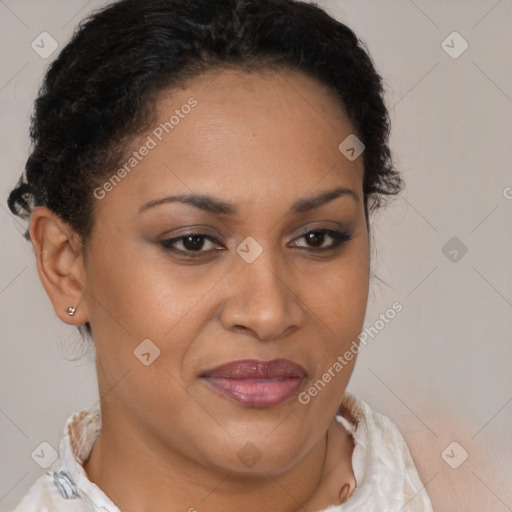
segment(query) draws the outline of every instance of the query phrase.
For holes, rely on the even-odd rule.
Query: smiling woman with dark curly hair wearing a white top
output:
[[[369,214],[402,187],[382,96],[303,2],[122,0],[81,24],[8,202],[101,404],[16,510],[432,510],[396,426],[346,392]]]

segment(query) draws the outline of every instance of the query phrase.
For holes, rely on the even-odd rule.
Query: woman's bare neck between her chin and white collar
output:
[[[329,427],[329,436],[337,436],[334,457],[326,457],[333,452],[328,450],[326,431],[287,471],[242,475],[207,467],[172,447],[158,445],[150,433],[133,426],[133,418],[123,421],[116,413],[115,421],[109,421],[108,412],[103,416],[102,407],[102,429],[84,469],[123,512],[169,512],[170,506],[189,512],[296,512],[306,504],[308,510],[318,510],[311,505],[339,503],[336,489],[343,482],[339,486],[334,482],[334,491],[325,489],[333,474],[340,477],[339,464],[334,470],[336,459],[344,458],[341,474],[353,477],[351,441],[335,420],[337,426]],[[114,425],[122,428],[113,429]]]

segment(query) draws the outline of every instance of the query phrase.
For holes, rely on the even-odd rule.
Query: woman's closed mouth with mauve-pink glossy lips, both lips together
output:
[[[302,366],[288,359],[244,359],[208,370],[200,377],[237,403],[265,408],[292,398],[307,374]]]

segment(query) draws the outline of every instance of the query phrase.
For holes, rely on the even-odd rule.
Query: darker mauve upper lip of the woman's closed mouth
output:
[[[261,361],[241,359],[231,361],[204,372],[201,377],[219,377],[225,379],[278,379],[304,378],[306,370],[289,359]]]

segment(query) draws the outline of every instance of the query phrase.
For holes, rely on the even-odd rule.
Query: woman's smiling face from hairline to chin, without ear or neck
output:
[[[279,473],[325,433],[355,363],[338,357],[368,296],[363,156],[338,149],[353,128],[335,98],[292,71],[207,73],[157,109],[95,193],[79,309],[104,417],[207,467]],[[176,195],[202,199],[148,206]],[[274,359],[291,363],[267,379],[212,372]]]

